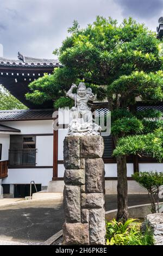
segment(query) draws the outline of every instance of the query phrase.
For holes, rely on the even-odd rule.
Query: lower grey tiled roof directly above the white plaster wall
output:
[[[53,109],[1,110],[0,121],[53,119]]]

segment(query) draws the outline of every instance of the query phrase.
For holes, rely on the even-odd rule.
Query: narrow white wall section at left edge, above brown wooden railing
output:
[[[1,161],[8,160],[9,147],[10,147],[10,135],[0,134],[0,144],[2,144],[2,159],[1,159]]]

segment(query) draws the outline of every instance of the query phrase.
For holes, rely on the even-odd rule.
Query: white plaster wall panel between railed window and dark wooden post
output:
[[[36,136],[36,166],[53,166],[53,136]]]

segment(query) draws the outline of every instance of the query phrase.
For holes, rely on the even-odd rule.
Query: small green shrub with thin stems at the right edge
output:
[[[132,175],[140,186],[148,191],[152,213],[159,212],[159,187],[163,185],[163,173],[140,172]]]

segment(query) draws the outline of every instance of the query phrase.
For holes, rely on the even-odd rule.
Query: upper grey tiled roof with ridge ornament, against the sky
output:
[[[17,59],[8,59],[0,57],[0,66],[37,66],[37,67],[52,67],[61,66],[58,59],[41,59],[23,56],[18,52]]]

